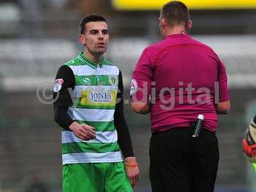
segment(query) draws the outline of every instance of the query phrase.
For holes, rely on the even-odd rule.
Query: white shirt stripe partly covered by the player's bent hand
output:
[[[117,141],[117,132],[115,131],[104,131],[96,132],[96,138],[89,141],[84,141],[77,138],[72,131],[61,131],[62,143],[115,143]]]

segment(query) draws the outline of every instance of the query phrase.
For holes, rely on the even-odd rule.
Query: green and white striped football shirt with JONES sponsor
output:
[[[79,124],[95,127],[97,137],[83,141],[74,132],[62,130],[63,164],[123,161],[114,125],[119,69],[105,59],[97,65],[79,52],[64,65],[74,73],[74,104],[68,115]]]

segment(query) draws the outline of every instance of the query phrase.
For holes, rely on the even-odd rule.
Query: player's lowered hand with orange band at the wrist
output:
[[[129,178],[131,182],[131,186],[133,188],[134,185],[140,179],[140,171],[139,171],[138,164],[136,162],[135,157],[125,158],[125,170],[126,170],[127,177]]]

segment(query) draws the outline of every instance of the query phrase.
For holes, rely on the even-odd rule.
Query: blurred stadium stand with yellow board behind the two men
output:
[[[109,18],[111,44],[106,58],[122,70],[127,100],[131,72],[143,48],[161,38],[158,15],[164,2],[0,1],[1,192],[29,191],[28,186],[38,180],[50,191],[61,191],[61,129],[49,103],[61,63],[83,48],[77,41],[81,17],[101,13]],[[190,34],[214,48],[229,76],[232,108],[229,115],[220,116],[215,191],[256,191],[255,173],[241,150],[244,129],[256,114],[256,1],[184,3],[191,9]],[[129,104],[125,116],[141,171],[134,191],[150,191],[149,118],[134,114]]]

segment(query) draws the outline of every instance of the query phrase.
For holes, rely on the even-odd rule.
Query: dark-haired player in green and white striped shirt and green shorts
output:
[[[122,74],[104,58],[106,19],[84,17],[79,41],[84,51],[59,68],[54,83],[54,117],[63,128],[63,191],[132,191],[139,170],[124,118]]]

